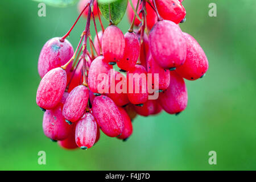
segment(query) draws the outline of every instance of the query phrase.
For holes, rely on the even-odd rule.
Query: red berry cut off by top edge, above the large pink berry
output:
[[[155,3],[163,19],[178,24],[185,18],[186,10],[179,0],[155,0]]]

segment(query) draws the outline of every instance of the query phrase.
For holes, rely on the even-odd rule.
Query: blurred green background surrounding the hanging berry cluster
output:
[[[211,2],[217,17],[208,15]],[[127,142],[102,134],[87,151],[66,151],[42,131],[43,112],[35,102],[37,62],[43,44],[75,22],[77,7],[47,6],[46,17],[39,17],[38,2],[0,1],[0,169],[255,170],[256,3],[184,0],[183,5],[187,21],[180,27],[209,60],[203,79],[186,81],[187,109],[178,116],[137,117]],[[81,19],[68,38],[73,47],[85,23]],[[119,27],[124,33],[129,28],[126,15]],[[41,150],[46,165],[38,164]],[[208,163],[212,150],[217,165]]]

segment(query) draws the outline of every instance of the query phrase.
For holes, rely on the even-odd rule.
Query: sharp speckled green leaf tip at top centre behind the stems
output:
[[[98,7],[104,18],[109,20],[109,6],[110,6],[110,16],[113,24],[118,24],[121,22],[123,15],[125,15],[128,0],[117,0],[111,3],[100,3],[98,2]]]

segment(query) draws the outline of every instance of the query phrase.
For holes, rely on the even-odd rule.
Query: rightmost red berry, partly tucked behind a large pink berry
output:
[[[187,80],[196,80],[207,72],[208,59],[204,50],[191,35],[187,33],[183,35],[187,40],[187,56],[185,63],[177,67],[176,72]]]

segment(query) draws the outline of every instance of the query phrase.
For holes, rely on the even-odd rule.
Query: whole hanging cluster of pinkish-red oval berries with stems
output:
[[[133,133],[131,121],[137,114],[183,111],[188,101],[184,78],[203,77],[208,60],[196,40],[179,27],[186,14],[181,1],[133,0],[136,10],[127,7],[131,27],[125,35],[111,19],[104,30],[96,0],[80,1],[80,16],[87,22],[76,51],[65,39],[72,27],[62,38],[48,40],[40,52],[42,80],[36,103],[45,111],[44,134],[61,147],[87,149],[100,138],[100,130],[109,137],[129,138]],[[100,32],[95,16],[101,23]],[[91,18],[96,28],[94,40],[89,31]],[[134,26],[138,27],[135,31]],[[113,71],[115,64],[120,72]],[[103,81],[99,79],[102,74],[107,76]],[[143,82],[142,76],[136,80],[134,75],[144,75],[152,82]],[[118,85],[125,92],[115,90]],[[159,97],[148,99],[154,93]]]

